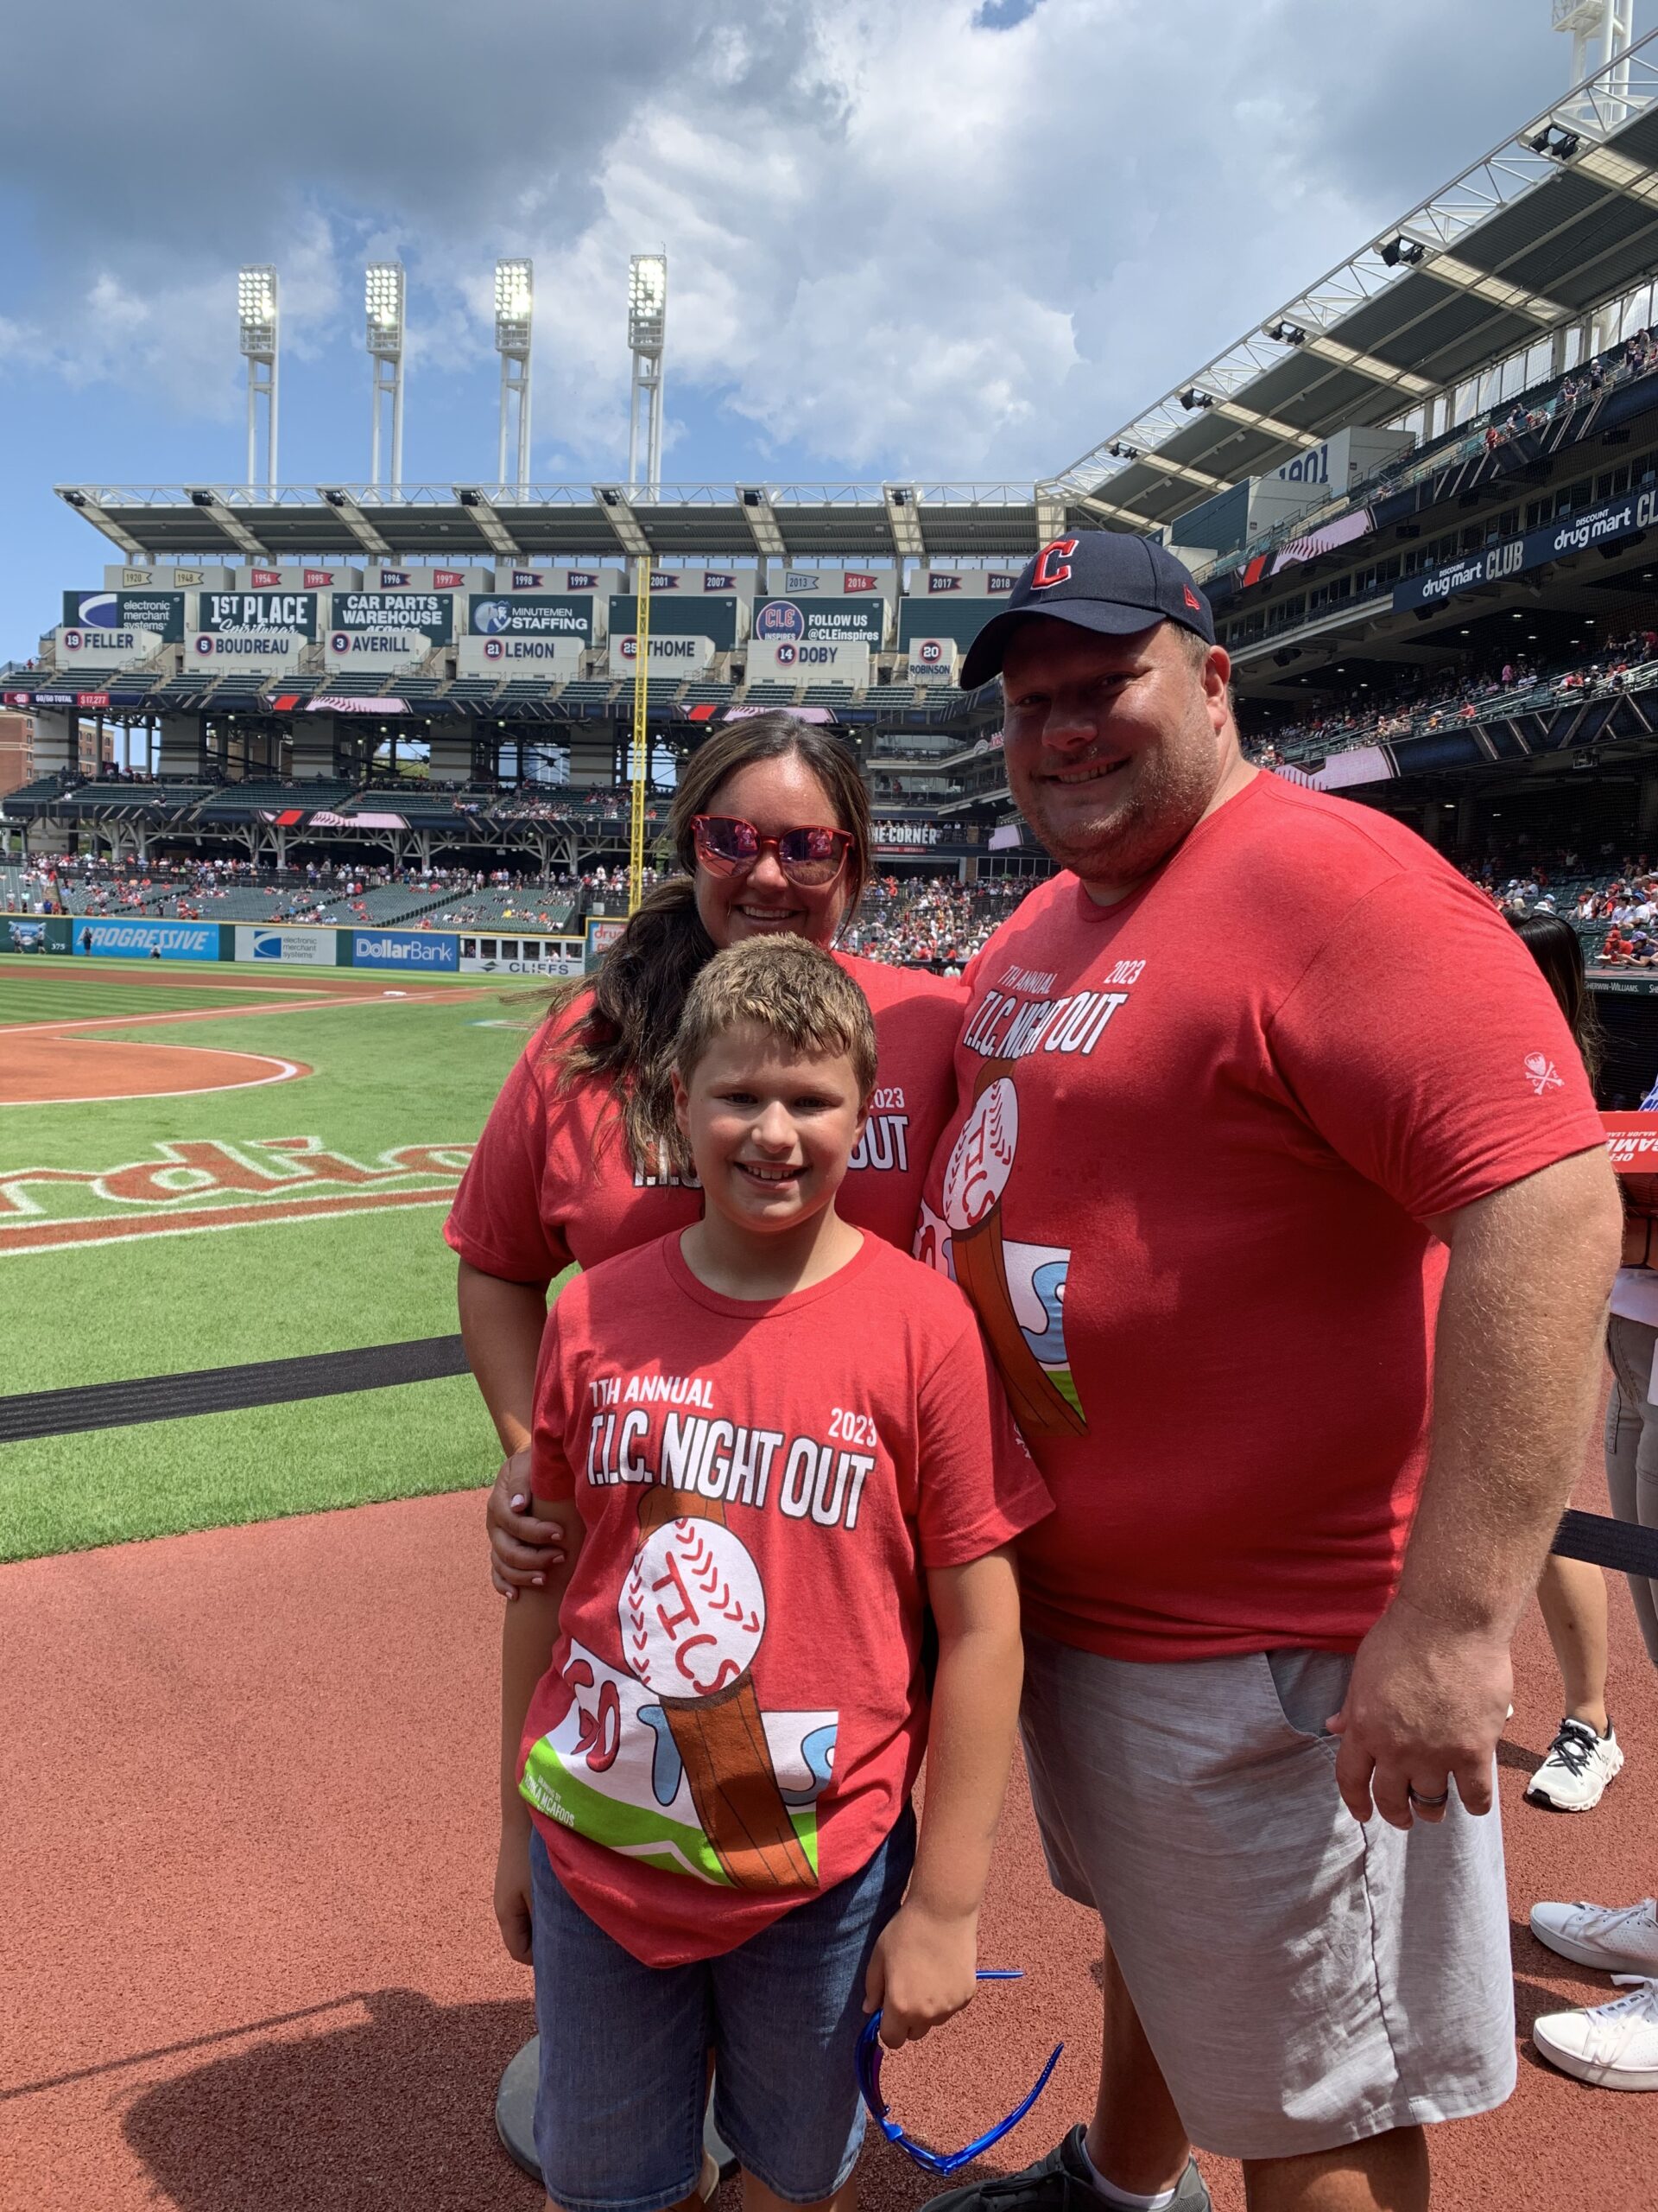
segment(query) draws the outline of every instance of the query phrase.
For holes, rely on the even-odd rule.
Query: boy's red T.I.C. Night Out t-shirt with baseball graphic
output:
[[[548,1314],[531,1489],[584,1544],[520,1790],[648,1966],[736,1949],[869,1863],[926,1745],[924,1571],[1048,1511],[973,1310],[864,1237],[776,1301],[679,1232]]]

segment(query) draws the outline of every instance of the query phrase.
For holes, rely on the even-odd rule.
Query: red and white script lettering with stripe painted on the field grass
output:
[[[108,1168],[0,1168],[0,1256],[389,1206],[447,1206],[471,1144],[354,1159],[323,1137],[192,1137]]]

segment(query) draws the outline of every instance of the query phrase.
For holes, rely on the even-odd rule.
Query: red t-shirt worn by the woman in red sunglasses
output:
[[[853,953],[836,960],[869,1000],[880,1051],[869,1128],[836,1208],[909,1252],[926,1164],[955,1102],[951,1055],[966,987]],[[455,1192],[444,1237],[482,1274],[544,1285],[570,1261],[595,1267],[688,1228],[703,1210],[694,1183],[632,1161],[608,1084],[559,1086],[548,1046],[586,1009],[584,993],[555,1029],[531,1037]]]

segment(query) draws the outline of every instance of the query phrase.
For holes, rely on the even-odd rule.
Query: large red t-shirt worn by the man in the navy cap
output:
[[[1054,1495],[1026,1626],[1355,1648],[1426,1464],[1424,1223],[1601,1144],[1543,975],[1410,830],[1258,774],[1121,905],[1032,891],[966,980],[917,1254]]]

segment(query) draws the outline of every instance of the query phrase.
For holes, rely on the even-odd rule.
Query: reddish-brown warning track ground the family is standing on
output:
[[[1578,1504],[1605,1509],[1598,1475]],[[1585,1818],[1519,1803],[1559,1708],[1534,1615],[1519,1639],[1499,1763],[1521,2031],[1614,1993],[1532,1942],[1530,1902],[1651,1891],[1658,1677],[1620,1582],[1612,1606],[1631,1765]],[[20,1962],[0,2172],[18,2201],[535,2212],[491,2124],[533,2020],[489,1902],[500,1601],[482,1498],[4,1566],[0,1624],[0,1741],[27,1778],[0,1823]],[[1041,2157],[1092,2104],[1099,1922],[1048,1887],[1017,1783],[979,1955],[1028,1980],[886,2068],[904,2124],[962,2143],[1066,2039],[1037,2112],[975,2174]],[[1437,2212],[1645,2201],[1649,2099],[1550,2073],[1528,2042],[1501,2112],[1430,2132]],[[1238,2168],[1200,2163],[1216,2212],[1242,2212]],[[937,2192],[884,2146],[860,2183],[864,2212]],[[736,2212],[734,2188],[716,2212]]]

